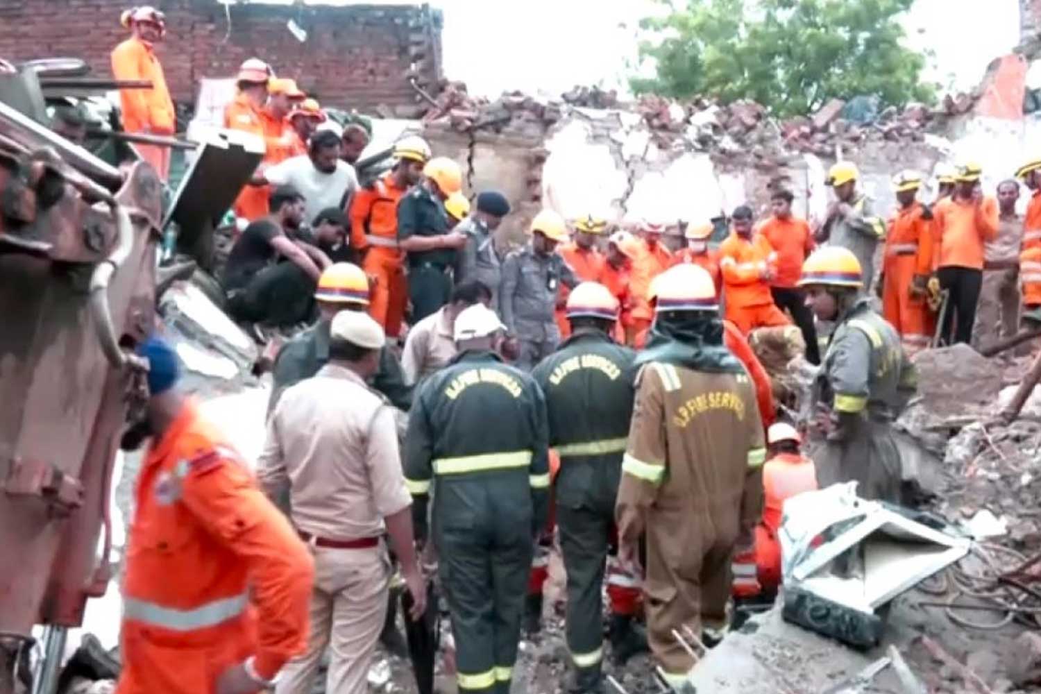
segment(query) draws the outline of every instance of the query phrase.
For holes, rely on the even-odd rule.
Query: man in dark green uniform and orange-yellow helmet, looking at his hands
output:
[[[445,201],[462,190],[462,171],[448,157],[434,157],[423,180],[398,203],[398,243],[408,256],[412,325],[436,313],[452,294],[451,268],[466,234],[449,231]]]

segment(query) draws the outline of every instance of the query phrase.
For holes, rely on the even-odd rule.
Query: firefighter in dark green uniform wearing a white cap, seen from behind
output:
[[[428,494],[434,497],[432,536],[459,691],[466,693],[509,692],[533,538],[545,523],[550,486],[542,391],[492,351],[502,331],[483,304],[459,314],[459,354],[424,382],[405,438],[405,482],[420,538]]]

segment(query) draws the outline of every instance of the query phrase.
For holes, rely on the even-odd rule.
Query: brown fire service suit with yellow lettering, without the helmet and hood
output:
[[[667,678],[693,666],[672,629],[727,625],[731,557],[739,541],[751,545],[759,521],[765,458],[755,387],[743,369],[642,367],[616,518],[623,542],[646,532],[648,636]]]

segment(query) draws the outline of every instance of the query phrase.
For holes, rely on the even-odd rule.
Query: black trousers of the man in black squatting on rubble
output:
[[[295,326],[314,314],[314,280],[291,262],[264,267],[228,297],[228,313],[237,322]]]

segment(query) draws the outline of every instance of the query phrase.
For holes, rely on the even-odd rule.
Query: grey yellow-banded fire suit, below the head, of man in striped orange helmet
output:
[[[811,457],[821,488],[856,480],[858,495],[900,500],[899,443],[892,422],[917,388],[899,335],[861,298],[832,334],[813,388],[813,412],[827,406],[834,429],[814,432]]]

